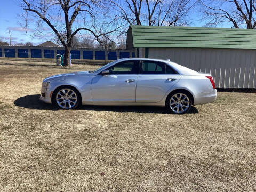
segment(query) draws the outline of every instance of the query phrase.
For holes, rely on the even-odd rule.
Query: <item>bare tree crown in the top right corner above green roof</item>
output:
[[[231,22],[233,27],[255,29],[255,0],[199,0],[204,13],[205,26]]]

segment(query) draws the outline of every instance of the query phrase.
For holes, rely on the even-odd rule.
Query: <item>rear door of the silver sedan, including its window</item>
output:
[[[136,102],[159,102],[177,83],[180,75],[164,62],[142,61],[141,74],[138,75]]]

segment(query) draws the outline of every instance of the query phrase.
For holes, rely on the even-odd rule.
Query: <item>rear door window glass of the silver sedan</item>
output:
[[[164,74],[165,64],[154,61],[144,61],[142,66],[142,74]]]

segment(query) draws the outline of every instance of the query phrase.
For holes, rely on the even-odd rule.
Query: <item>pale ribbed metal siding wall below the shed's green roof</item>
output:
[[[218,88],[256,88],[256,50],[149,48],[149,58],[211,73]]]

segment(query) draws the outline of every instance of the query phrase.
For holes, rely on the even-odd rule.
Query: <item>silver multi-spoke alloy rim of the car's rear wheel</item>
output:
[[[176,93],[170,99],[170,108],[174,113],[185,113],[189,108],[189,98],[184,93]]]

